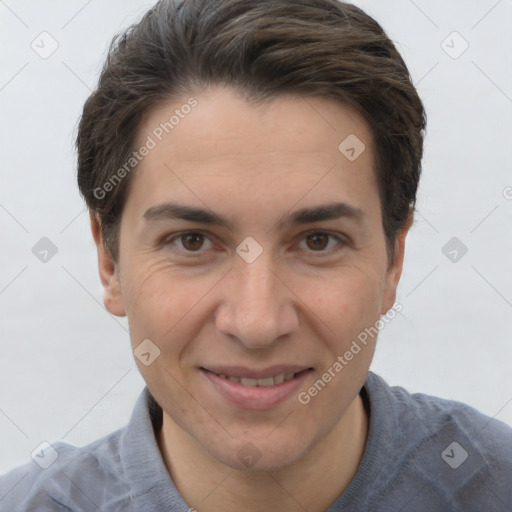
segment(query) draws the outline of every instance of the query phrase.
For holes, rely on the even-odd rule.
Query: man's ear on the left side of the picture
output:
[[[103,303],[109,313],[116,316],[125,316],[126,311],[119,281],[119,267],[103,238],[99,218],[93,212],[89,212],[89,218],[91,220],[92,236],[98,252],[98,270],[104,289]]]

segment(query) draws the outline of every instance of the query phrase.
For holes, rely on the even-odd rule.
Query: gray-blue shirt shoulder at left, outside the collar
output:
[[[0,476],[0,512],[12,510],[90,510],[101,503],[105,485],[122,497],[119,429],[93,443],[76,447],[46,443],[33,460]]]

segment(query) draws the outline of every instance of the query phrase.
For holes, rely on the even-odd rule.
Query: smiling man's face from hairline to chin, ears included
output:
[[[358,396],[375,338],[343,356],[393,305],[405,233],[388,264],[372,135],[354,110],[194,97],[131,176],[116,263],[96,227],[105,304],[127,315],[136,353],[151,340],[150,364],[136,362],[164,421],[230,467],[253,450],[255,468],[278,469]],[[140,145],[186,102],[149,112]],[[351,134],[356,159],[338,149]]]

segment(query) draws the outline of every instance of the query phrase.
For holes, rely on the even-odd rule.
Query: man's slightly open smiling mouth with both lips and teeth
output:
[[[313,371],[305,367],[273,367],[262,371],[241,367],[199,368],[217,396],[237,408],[265,410],[295,396]]]

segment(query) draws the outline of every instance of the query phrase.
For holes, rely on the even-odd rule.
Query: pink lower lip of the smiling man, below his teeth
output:
[[[270,409],[296,395],[304,379],[311,372],[310,369],[304,370],[297,373],[293,379],[273,386],[244,386],[212,372],[203,369],[200,371],[231,405],[254,411]]]

